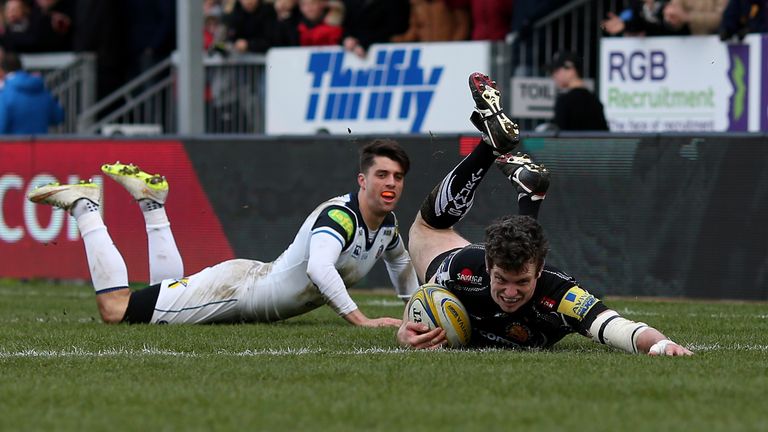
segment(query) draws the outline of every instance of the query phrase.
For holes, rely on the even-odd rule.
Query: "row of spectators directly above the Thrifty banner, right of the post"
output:
[[[374,43],[503,40],[514,0],[206,0],[205,48],[263,53],[270,47],[343,45],[364,56]]]

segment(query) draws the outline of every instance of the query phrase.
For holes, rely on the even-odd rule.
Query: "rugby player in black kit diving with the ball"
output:
[[[464,304],[472,324],[470,346],[545,348],[580,333],[630,353],[693,354],[647,324],[621,317],[544,263],[548,245],[535,218],[549,172],[526,155],[510,153],[519,141],[518,127],[501,110],[495,83],[477,73],[469,82],[476,105],[471,119],[483,141],[424,201],[409,232],[409,251],[422,282],[442,285]],[[517,187],[520,215],[494,222],[484,244],[471,244],[452,227],[472,207],[494,162]],[[414,348],[446,343],[444,330],[406,320],[397,340]]]

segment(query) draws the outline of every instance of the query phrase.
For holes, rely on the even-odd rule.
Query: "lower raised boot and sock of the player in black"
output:
[[[505,154],[496,159],[504,176],[517,188],[519,214],[539,217],[539,207],[549,189],[549,170],[533,163],[527,154]]]

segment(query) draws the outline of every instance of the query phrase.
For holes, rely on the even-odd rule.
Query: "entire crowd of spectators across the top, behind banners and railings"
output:
[[[261,54],[272,47],[340,45],[364,57],[374,43],[499,41],[510,33],[517,35],[513,43],[530,43],[537,20],[572,1],[203,0],[202,48],[227,56]],[[0,60],[3,52],[93,52],[99,77],[96,93],[102,98],[175,49],[176,2],[0,0]],[[723,40],[740,40],[747,33],[768,31],[768,0],[623,4],[628,7],[608,12],[599,23],[604,35],[719,34]],[[525,68],[532,59],[511,61]],[[568,65],[557,70],[562,76],[581,72]],[[578,89],[574,94],[582,89],[566,87]]]

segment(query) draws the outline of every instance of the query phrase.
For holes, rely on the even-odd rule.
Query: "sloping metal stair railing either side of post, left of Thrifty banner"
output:
[[[205,133],[264,132],[266,58],[261,55],[208,57],[205,68]],[[81,113],[78,132],[130,133],[128,127],[178,132],[176,68],[172,57],[160,62]],[[120,125],[126,125],[121,129]],[[135,130],[135,128],[134,128]]]

